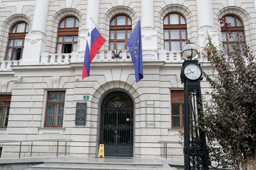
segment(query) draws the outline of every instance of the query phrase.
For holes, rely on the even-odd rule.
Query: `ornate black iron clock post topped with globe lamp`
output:
[[[197,128],[197,117],[201,114],[202,69],[197,59],[196,47],[188,42],[182,49],[185,59],[181,70],[181,81],[184,83],[184,169],[209,170],[208,152],[204,132]]]

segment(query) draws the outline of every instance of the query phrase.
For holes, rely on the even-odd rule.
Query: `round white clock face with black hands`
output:
[[[185,66],[183,73],[186,78],[190,80],[197,80],[202,75],[202,70],[198,65],[195,64],[189,64]]]

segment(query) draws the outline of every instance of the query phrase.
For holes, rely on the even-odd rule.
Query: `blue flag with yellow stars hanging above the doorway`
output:
[[[132,32],[130,38],[128,39],[127,45],[128,45],[133,66],[135,69],[135,79],[136,79],[136,82],[138,82],[143,78],[140,20],[138,21],[137,26]]]

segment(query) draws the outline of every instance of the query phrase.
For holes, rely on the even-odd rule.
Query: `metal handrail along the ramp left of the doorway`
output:
[[[35,139],[35,140],[18,140],[18,141],[0,141],[0,143],[16,143],[19,142],[19,158],[21,158],[21,144],[22,142],[31,142],[31,150],[30,150],[30,157],[32,156],[32,147],[33,147],[33,142],[40,142],[40,141],[57,141],[57,151],[56,151],[56,156],[59,154],[59,141],[65,141],[65,155],[67,153],[67,141],[72,141],[72,139]]]

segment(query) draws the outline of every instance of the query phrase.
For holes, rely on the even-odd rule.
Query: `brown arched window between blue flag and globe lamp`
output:
[[[187,41],[187,24],[185,18],[178,13],[170,13],[164,17],[164,49],[181,51]]]

